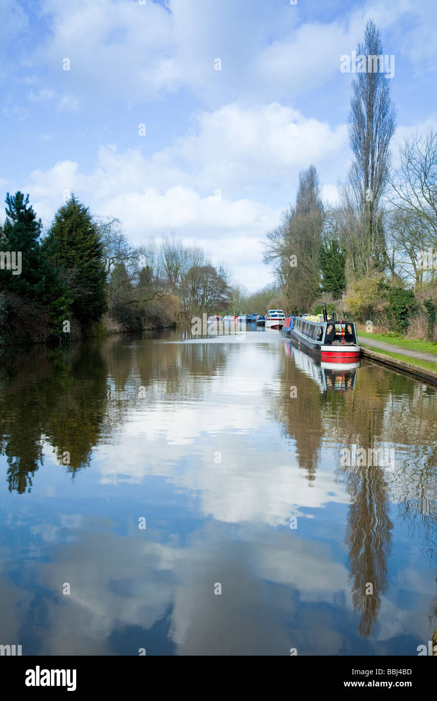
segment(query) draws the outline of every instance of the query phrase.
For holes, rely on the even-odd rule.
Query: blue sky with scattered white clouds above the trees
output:
[[[294,2],[294,0],[292,0]],[[353,74],[372,18],[398,110],[393,147],[436,125],[436,0],[1,0],[0,196],[48,227],[74,192],[133,245],[202,245],[235,283],[271,282],[265,233],[314,164],[352,161]],[[4,219],[1,209],[0,221]]]

